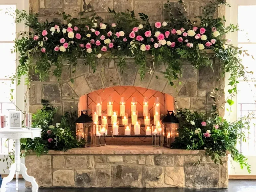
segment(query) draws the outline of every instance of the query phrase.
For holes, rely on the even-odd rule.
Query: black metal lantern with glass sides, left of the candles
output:
[[[75,123],[81,123],[82,126],[79,126],[77,129],[77,139],[79,141],[84,140],[86,147],[92,147],[93,146],[93,120],[89,115],[87,114],[88,111],[91,110],[82,110],[80,117],[75,121]],[[85,112],[85,113],[84,113]]]

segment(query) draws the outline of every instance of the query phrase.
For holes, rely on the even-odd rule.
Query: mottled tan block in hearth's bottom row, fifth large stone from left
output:
[[[162,167],[142,167],[142,182],[146,187],[162,187],[164,172]]]

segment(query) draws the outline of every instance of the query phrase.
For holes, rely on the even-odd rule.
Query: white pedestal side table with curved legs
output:
[[[20,139],[22,138],[35,138],[41,137],[42,129],[39,128],[20,128],[20,129],[8,129],[3,128],[0,131],[0,138],[8,138],[15,140],[15,163],[13,163],[10,167],[10,173],[7,177],[3,178],[2,186],[0,188],[0,192],[6,191],[6,184],[9,183],[15,175],[16,172],[16,190],[18,190],[18,178],[19,172],[21,172],[25,181],[29,181],[32,184],[32,192],[38,191],[38,184],[35,182],[35,178],[29,176],[27,173],[27,168],[25,164],[21,163],[20,151],[21,151],[21,143]]]

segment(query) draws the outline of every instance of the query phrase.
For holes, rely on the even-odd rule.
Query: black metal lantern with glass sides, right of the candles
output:
[[[174,115],[174,111],[167,111],[162,124],[164,125],[163,147],[170,147],[170,144],[174,142],[174,138],[179,136],[179,120]]]

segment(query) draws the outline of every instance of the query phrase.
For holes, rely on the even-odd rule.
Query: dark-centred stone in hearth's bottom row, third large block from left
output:
[[[96,170],[85,169],[76,170],[76,187],[96,187]]]

